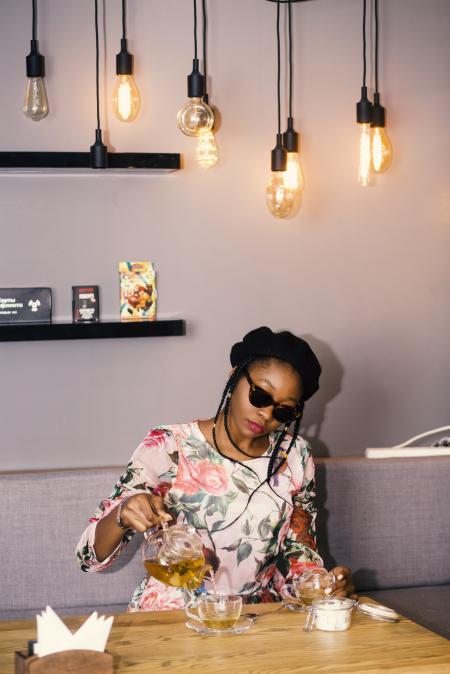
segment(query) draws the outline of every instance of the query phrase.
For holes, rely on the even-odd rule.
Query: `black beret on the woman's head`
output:
[[[230,361],[234,367],[253,356],[269,356],[290,363],[302,378],[302,400],[308,400],[319,390],[320,363],[308,342],[292,332],[272,332],[266,326],[256,328],[233,346]]]

